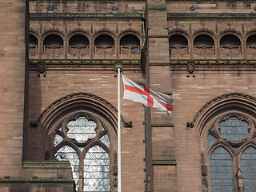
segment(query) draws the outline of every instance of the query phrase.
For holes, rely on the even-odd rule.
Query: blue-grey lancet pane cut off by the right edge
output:
[[[246,192],[256,191],[256,150],[249,146],[241,155],[242,182]]]

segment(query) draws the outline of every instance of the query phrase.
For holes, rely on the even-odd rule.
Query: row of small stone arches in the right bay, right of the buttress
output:
[[[170,59],[250,59],[256,54],[256,34],[242,37],[229,32],[215,37],[210,32],[200,32],[193,37],[175,32],[169,35]]]

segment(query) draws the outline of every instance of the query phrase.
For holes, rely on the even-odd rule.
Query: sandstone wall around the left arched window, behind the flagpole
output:
[[[117,106],[117,78],[113,70],[46,70],[46,77],[30,73],[30,121],[37,121],[39,115],[52,102],[68,94],[85,92],[95,94]],[[124,70],[123,74],[134,81],[144,81],[140,70]],[[142,191],[144,189],[145,156],[144,109],[142,104],[122,100],[122,116],[132,121],[132,128],[122,129],[122,190]],[[35,128],[29,128],[29,159],[45,158],[44,146]],[[38,145],[36,145],[38,143]],[[41,153],[38,153],[42,151]],[[131,185],[133,183],[133,185]]]

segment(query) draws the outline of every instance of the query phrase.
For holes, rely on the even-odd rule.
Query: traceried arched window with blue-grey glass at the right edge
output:
[[[255,122],[244,114],[225,114],[214,122],[206,141],[212,192],[255,191],[255,136]]]

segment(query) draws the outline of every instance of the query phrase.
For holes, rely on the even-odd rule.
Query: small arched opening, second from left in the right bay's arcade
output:
[[[209,56],[215,54],[214,39],[209,35],[201,34],[194,38],[194,55]]]

